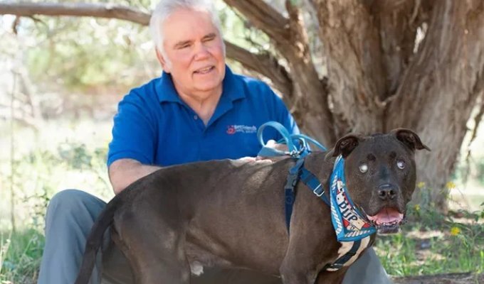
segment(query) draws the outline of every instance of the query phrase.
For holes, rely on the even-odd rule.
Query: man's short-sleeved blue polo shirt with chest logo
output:
[[[178,96],[172,76],[163,73],[132,89],[118,105],[107,165],[121,158],[167,166],[255,157],[261,149],[257,129],[267,121],[278,121],[299,133],[283,101],[259,80],[234,75],[226,67],[221,98],[204,125]],[[273,129],[265,129],[265,141],[279,138]]]

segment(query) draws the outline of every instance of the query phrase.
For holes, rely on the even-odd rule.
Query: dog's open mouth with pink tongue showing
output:
[[[400,225],[405,222],[404,214],[394,207],[382,208],[377,214],[367,216],[369,222],[377,228],[377,233],[396,234],[400,231]]]

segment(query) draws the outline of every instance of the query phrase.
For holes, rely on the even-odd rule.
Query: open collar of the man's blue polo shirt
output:
[[[177,93],[177,89],[174,87],[172,75],[167,72],[162,73],[162,77],[160,77],[156,91],[160,103],[177,102],[179,104],[183,104]],[[246,92],[241,80],[236,80],[236,75],[234,75],[232,70],[225,65],[225,77],[223,77],[222,81],[221,100],[225,101],[228,99],[229,101],[233,102],[237,99],[243,99],[245,97]]]

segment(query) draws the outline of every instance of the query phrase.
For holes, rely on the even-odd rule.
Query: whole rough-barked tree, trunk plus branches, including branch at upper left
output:
[[[303,131],[332,146],[349,131],[413,129],[432,149],[417,153],[418,179],[446,210],[444,185],[471,111],[484,100],[483,0],[308,0],[319,23],[327,78],[316,72],[298,1],[285,0],[287,16],[263,0],[224,1],[267,33],[277,50],[253,54],[226,43],[228,57],[268,77]],[[0,3],[3,13],[142,25],[149,19],[148,13],[109,4]]]

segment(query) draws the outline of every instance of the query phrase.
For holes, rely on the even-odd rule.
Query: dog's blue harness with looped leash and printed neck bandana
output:
[[[263,141],[263,130],[272,126],[283,136],[278,143],[285,143],[288,151],[279,151],[265,146]],[[295,201],[295,186],[301,180],[312,192],[325,202],[331,209],[332,225],[335,229],[337,241],[342,244],[338,251],[339,257],[335,263],[327,264],[323,270],[337,271],[343,266],[349,266],[357,259],[357,255],[370,244],[370,237],[377,231],[368,220],[362,217],[357,207],[347,194],[346,182],[344,179],[344,159],[339,156],[335,161],[335,167],[331,175],[330,199],[325,195],[325,188],[321,182],[304,167],[305,157],[311,153],[307,141],[314,143],[322,151],[326,148],[314,139],[301,134],[290,135],[289,132],[275,121],[263,124],[258,129],[258,139],[263,148],[258,153],[260,156],[273,157],[289,155],[295,160],[295,165],[290,168],[287,181],[284,186],[285,192],[285,222],[290,230],[290,219],[293,214]]]

